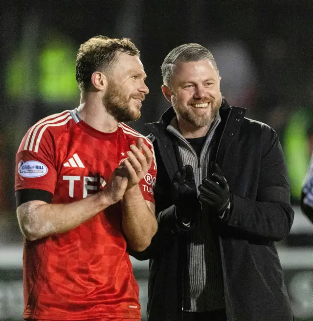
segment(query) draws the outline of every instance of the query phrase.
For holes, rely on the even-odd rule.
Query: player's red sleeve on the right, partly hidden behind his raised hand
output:
[[[156,185],[156,171],[157,171],[157,169],[156,169],[156,155],[155,155],[155,150],[153,148],[153,144],[152,144],[151,140],[149,140],[148,138],[145,138],[145,144],[147,144],[147,146],[152,151],[153,160],[152,160],[152,164],[151,164],[151,167],[150,167],[148,173],[140,181],[139,185],[140,185],[140,189],[141,189],[143,198],[146,201],[149,201],[149,202],[155,204],[154,189],[155,189],[155,185]]]

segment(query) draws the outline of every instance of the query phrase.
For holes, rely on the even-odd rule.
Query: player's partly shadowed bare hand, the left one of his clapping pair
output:
[[[123,198],[128,185],[128,172],[119,165],[116,167],[106,184],[102,193],[106,196],[111,205],[117,203]]]

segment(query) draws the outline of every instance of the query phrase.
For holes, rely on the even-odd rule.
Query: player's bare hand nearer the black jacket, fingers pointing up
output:
[[[131,151],[127,152],[128,158],[121,164],[128,172],[127,189],[134,187],[145,177],[153,160],[152,152],[143,143],[143,138],[138,138],[136,145],[131,145],[130,148]]]

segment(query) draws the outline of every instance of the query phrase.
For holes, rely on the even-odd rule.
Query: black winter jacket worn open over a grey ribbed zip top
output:
[[[291,305],[274,241],[286,237],[293,222],[290,189],[281,145],[266,124],[244,118],[246,109],[223,100],[222,118],[213,140],[213,158],[232,193],[232,208],[220,235],[224,298],[228,321],[292,321]],[[166,126],[171,107],[152,134],[157,177],[158,231],[144,252],[131,252],[149,262],[149,321],[182,320],[183,292],[188,293],[186,233],[174,215],[171,181],[178,165]],[[209,164],[208,164],[209,165]]]

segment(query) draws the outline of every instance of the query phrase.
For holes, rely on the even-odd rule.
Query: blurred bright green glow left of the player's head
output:
[[[79,95],[75,62],[76,50],[62,36],[48,37],[41,50],[21,45],[7,64],[6,91],[13,99],[73,101]]]

